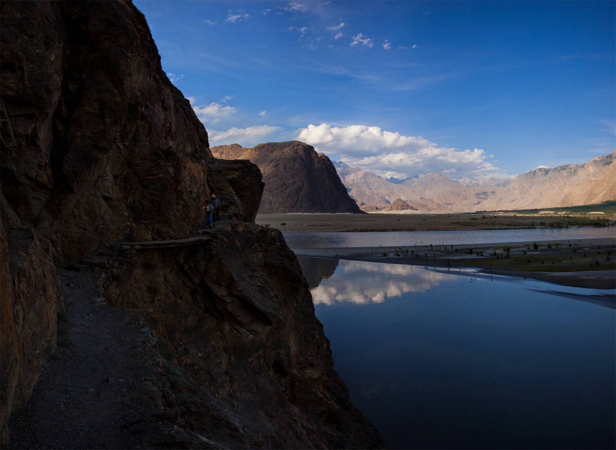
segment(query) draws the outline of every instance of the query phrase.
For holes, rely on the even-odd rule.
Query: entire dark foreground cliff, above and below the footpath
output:
[[[160,400],[172,427],[234,448],[383,445],[333,371],[294,255],[251,224],[259,169],[211,155],[144,16],[128,1],[0,7],[3,441],[55,347],[55,267],[188,236],[216,193],[230,222],[213,242],[115,255],[100,279],[176,349],[194,395]]]

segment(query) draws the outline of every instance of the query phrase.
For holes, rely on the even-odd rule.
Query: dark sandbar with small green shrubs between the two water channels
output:
[[[537,244],[537,248],[535,245]],[[294,249],[296,254],[432,267],[477,267],[485,273],[535,278],[565,286],[614,289],[614,238],[454,246]]]

